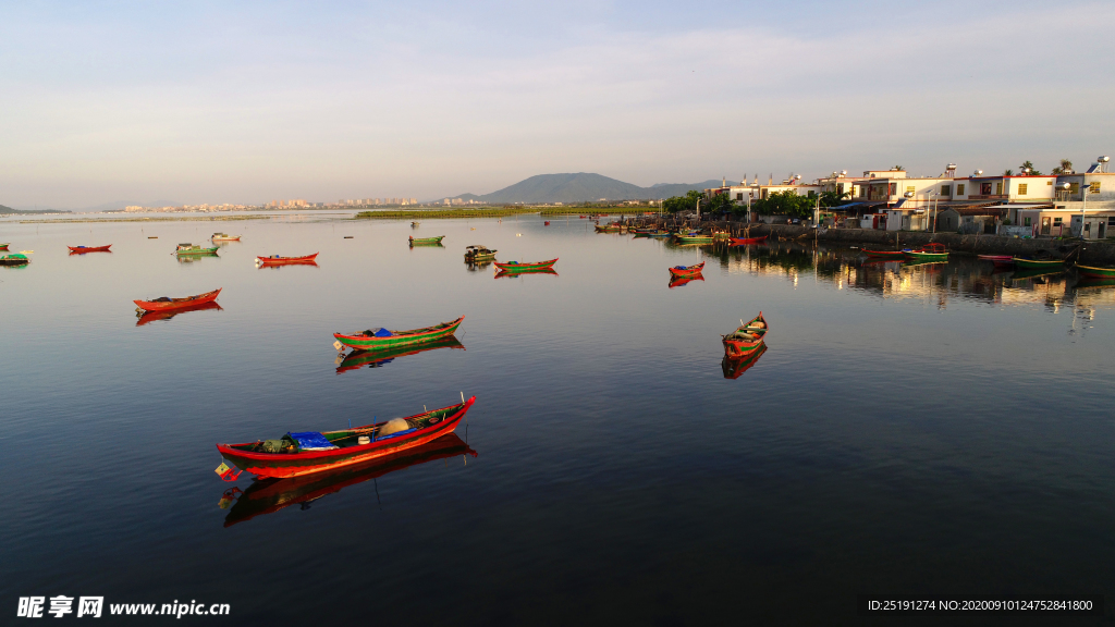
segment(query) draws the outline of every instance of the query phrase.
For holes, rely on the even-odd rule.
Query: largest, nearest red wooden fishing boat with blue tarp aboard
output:
[[[217,444],[216,448],[227,462],[260,478],[301,476],[395,455],[448,435],[475,402],[473,396],[406,418],[341,431],[288,433],[280,440]]]

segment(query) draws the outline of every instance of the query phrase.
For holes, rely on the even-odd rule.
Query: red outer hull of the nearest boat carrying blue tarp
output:
[[[465,414],[468,413],[468,408],[475,402],[476,397],[473,396],[459,405],[434,409],[434,412],[425,412],[416,416],[408,416],[408,418],[418,418],[435,412],[450,409],[445,419],[439,421],[435,425],[420,428],[404,436],[377,440],[369,444],[357,446],[346,446],[331,451],[306,451],[301,453],[254,453],[235,447],[252,443],[217,444],[216,448],[225,460],[232,462],[237,469],[248,471],[260,478],[301,476],[395,455],[433,442],[443,435],[448,435],[457,428],[457,425],[460,424]],[[371,426],[374,425],[355,427],[355,430]]]

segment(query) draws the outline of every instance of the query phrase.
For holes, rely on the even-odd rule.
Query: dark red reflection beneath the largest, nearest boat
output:
[[[232,527],[290,505],[300,504],[301,509],[308,510],[310,503],[327,494],[340,492],[349,485],[378,479],[395,471],[457,455],[475,457],[476,454],[476,451],[469,448],[457,434],[448,433],[433,442],[407,448],[389,457],[377,457],[351,466],[290,479],[258,480],[243,492],[232,488],[225,491],[219,505],[222,509],[232,508],[224,519],[224,525]]]

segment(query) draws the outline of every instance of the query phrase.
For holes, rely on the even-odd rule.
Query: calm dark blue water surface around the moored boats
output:
[[[1115,601],[1115,288],[964,258],[720,255],[576,219],[317,220],[0,223],[35,250],[0,268],[4,614],[59,594],[281,625],[841,624],[866,621],[860,592]],[[243,241],[171,254],[216,230]],[[446,245],[408,249],[413,233]],[[559,257],[559,274],[494,279],[463,263],[473,243]],[[668,287],[699,260],[704,281]],[[136,325],[133,299],[219,287],[221,309]],[[759,310],[768,350],[726,378],[719,335]],[[460,315],[463,350],[338,372],[332,331]],[[272,493],[213,472],[216,442],[462,392],[460,442],[406,460]],[[219,507],[232,485],[248,492]]]

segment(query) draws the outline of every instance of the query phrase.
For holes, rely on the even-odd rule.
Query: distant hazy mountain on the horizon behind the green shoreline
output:
[[[719,187],[719,180],[708,180],[701,183],[658,183],[650,187],[640,187],[600,174],[579,172],[575,174],[539,174],[520,181],[514,185],[492,192],[491,194],[460,194],[454,199],[474,199],[492,204],[507,203],[576,203],[594,202],[601,199],[619,200],[658,200],[685,195],[689,190]]]

